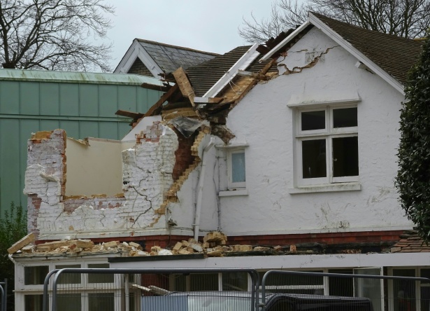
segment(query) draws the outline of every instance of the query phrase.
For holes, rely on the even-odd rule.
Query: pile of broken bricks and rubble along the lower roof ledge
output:
[[[9,254],[22,254],[22,256],[85,256],[106,253],[119,253],[121,256],[163,256],[163,255],[189,255],[204,254],[208,257],[229,256],[229,253],[266,252],[270,254],[296,253],[294,245],[288,247],[252,247],[252,245],[227,246],[227,236],[224,233],[213,231],[203,237],[203,243],[190,238],[176,242],[173,247],[163,249],[152,246],[150,251],[144,251],[141,244],[135,242],[110,241],[94,244],[91,240],[59,240],[34,244],[32,234],[22,238],[8,249]]]

